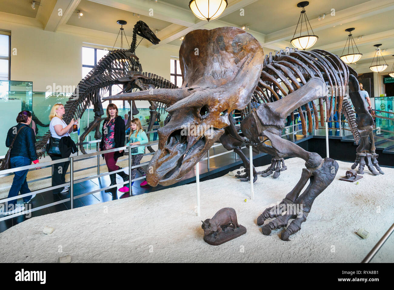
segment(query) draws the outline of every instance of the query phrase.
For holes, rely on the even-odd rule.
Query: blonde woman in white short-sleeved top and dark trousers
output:
[[[72,125],[74,125],[74,119],[71,119],[70,123],[67,125],[63,121],[63,115],[65,114],[64,106],[60,103],[53,105],[49,114],[49,131],[52,138],[61,139],[62,137],[70,136],[72,132]],[[49,140],[48,140],[49,143]],[[49,155],[53,160],[62,159],[61,155]],[[66,172],[69,168],[70,161],[63,161],[54,164],[54,170],[52,172],[52,186],[60,185],[66,183]],[[69,191],[70,185],[66,185],[63,188],[53,189],[52,193],[65,193]]]

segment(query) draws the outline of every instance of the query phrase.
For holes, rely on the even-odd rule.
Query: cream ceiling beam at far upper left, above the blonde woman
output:
[[[81,0],[58,0],[50,13],[44,30],[56,32],[61,24],[66,24]],[[61,9],[61,13],[59,12]],[[59,15],[61,14],[61,15]]]

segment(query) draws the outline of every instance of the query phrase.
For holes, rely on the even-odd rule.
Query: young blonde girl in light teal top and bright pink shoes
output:
[[[142,145],[145,143],[148,143],[148,137],[145,133],[145,131],[142,129],[141,126],[141,121],[138,118],[134,118],[131,120],[130,122],[130,141],[127,145]],[[131,152],[129,152],[129,154],[132,155],[132,161],[131,161],[131,166],[136,166],[139,165],[139,163],[141,162],[141,159],[143,157],[145,153],[145,146],[139,146],[136,148],[131,148]],[[136,173],[137,170],[139,171],[139,173],[141,173],[143,176],[146,175],[145,171],[143,170],[142,167],[138,167],[138,168],[133,168],[131,170],[131,176],[130,179],[133,180],[134,178],[136,178]],[[131,185],[133,186],[134,181],[131,183]],[[147,181],[144,180],[140,186],[144,186],[147,185]],[[128,187],[128,184],[122,188],[119,189],[119,191],[121,192],[128,192],[130,191],[130,188]]]

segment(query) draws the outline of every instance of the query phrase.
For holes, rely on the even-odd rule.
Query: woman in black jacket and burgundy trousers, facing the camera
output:
[[[100,151],[109,150],[112,148],[119,148],[125,146],[126,127],[125,121],[121,116],[118,116],[118,108],[115,104],[111,103],[107,107],[107,118],[102,124],[102,138],[100,142]],[[119,157],[123,156],[123,150],[104,153],[105,163],[108,167],[108,172],[121,169],[116,165]],[[118,174],[123,178],[123,181],[128,180],[128,175],[121,171]],[[110,174],[111,185],[116,184],[116,174]],[[110,192],[111,189],[107,189],[105,192]]]

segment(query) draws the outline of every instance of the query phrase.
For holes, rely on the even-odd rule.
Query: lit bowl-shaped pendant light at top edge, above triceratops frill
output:
[[[196,17],[202,20],[215,19],[227,7],[227,0],[191,0],[189,8]]]

